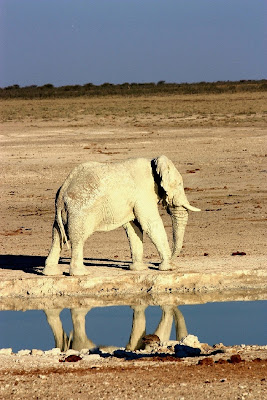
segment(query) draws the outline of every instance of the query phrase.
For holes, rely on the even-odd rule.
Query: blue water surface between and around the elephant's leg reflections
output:
[[[267,301],[207,303],[183,305],[182,313],[188,334],[200,342],[213,345],[224,343],[267,344]],[[162,310],[149,306],[145,311],[146,333],[154,333]],[[86,315],[86,335],[96,345],[125,347],[132,329],[133,310],[129,306],[96,307]],[[69,336],[73,329],[70,310],[60,313],[63,329]],[[176,339],[172,323],[171,340]],[[0,348],[48,350],[55,340],[44,311],[1,311]]]

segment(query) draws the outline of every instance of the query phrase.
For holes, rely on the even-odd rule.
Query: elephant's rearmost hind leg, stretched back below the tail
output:
[[[58,266],[60,251],[61,251],[61,237],[57,223],[53,225],[52,231],[52,246],[50,252],[45,260],[45,268],[43,269],[44,275],[61,275],[62,271]]]

